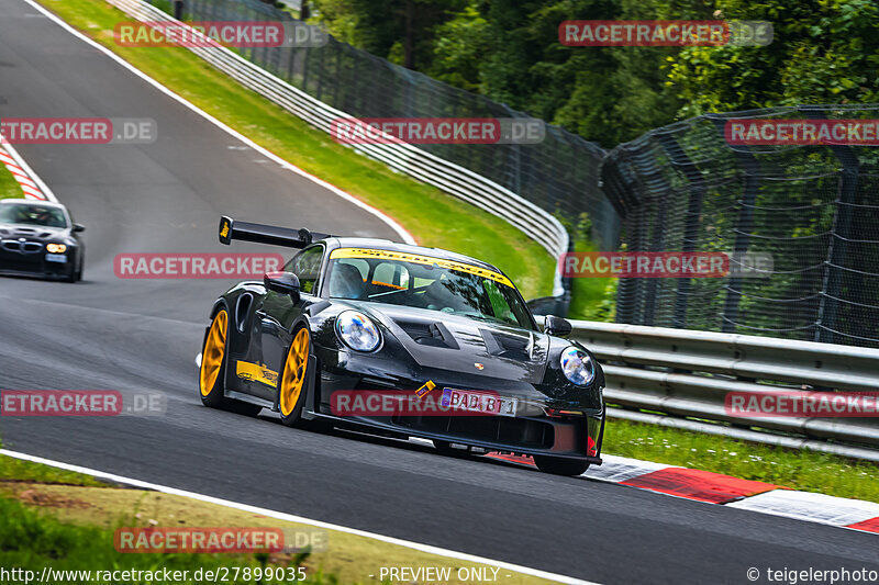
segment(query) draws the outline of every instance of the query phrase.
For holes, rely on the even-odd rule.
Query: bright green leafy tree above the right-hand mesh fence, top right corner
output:
[[[669,57],[681,116],[799,103],[879,99],[879,7],[875,0],[717,0],[717,16],[765,20],[764,47],[688,47]]]

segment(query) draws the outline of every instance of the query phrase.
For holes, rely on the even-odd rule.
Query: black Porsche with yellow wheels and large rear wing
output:
[[[601,367],[560,337],[567,320],[548,316],[541,331],[493,266],[230,217],[220,239],[301,251],[214,303],[199,375],[205,405],[432,439],[447,452],[531,454],[564,475],[601,463]]]

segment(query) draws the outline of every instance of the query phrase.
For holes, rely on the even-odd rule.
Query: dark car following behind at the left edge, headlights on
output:
[[[85,229],[60,203],[0,200],[0,273],[80,280]]]

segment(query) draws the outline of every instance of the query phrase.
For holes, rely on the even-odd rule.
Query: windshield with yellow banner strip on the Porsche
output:
[[[340,248],[330,261],[329,296],[442,311],[532,329],[525,303],[507,277],[421,255]]]

